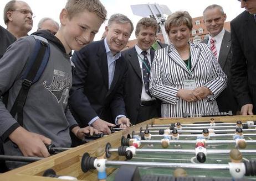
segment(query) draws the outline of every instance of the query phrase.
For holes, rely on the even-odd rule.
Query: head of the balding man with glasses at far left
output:
[[[33,26],[33,13],[23,1],[9,1],[4,7],[4,23],[16,38],[27,36]]]

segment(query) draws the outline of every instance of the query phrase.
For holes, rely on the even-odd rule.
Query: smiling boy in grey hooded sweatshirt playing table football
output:
[[[48,157],[45,145],[70,147],[69,130],[83,138],[93,127],[81,129],[69,108],[67,100],[72,85],[70,52],[93,41],[106,18],[106,10],[99,0],[68,0],[60,13],[60,29],[54,36],[46,30],[34,35],[47,39],[50,56],[38,82],[32,84],[23,107],[23,126],[9,111],[21,88],[21,74],[32,55],[35,38],[21,38],[9,47],[0,60],[0,95],[9,90],[8,110],[0,101],[0,136],[8,155]],[[15,143],[15,144],[14,144]],[[17,148],[17,146],[18,148]],[[6,162],[9,169],[17,162]]]

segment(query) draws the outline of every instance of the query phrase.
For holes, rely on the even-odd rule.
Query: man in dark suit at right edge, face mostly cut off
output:
[[[256,114],[256,1],[242,0],[245,11],[231,21],[233,91],[242,115]]]

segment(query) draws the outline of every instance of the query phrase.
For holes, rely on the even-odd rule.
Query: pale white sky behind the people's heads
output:
[[[27,2],[32,8],[35,18],[33,18],[33,29],[28,34],[37,30],[37,24],[40,19],[44,17],[53,18],[59,23],[59,13],[65,7],[66,0],[23,0]],[[171,12],[177,10],[187,10],[192,18],[201,17],[203,10],[211,5],[218,4],[223,7],[224,12],[227,14],[227,22],[231,21],[238,14],[242,13],[244,9],[240,8],[240,2],[237,0],[100,0],[107,10],[107,19],[111,14],[122,13],[132,20],[134,26],[142,18],[132,13],[131,5],[135,4],[163,4],[166,5]],[[3,22],[3,9],[9,0],[0,0],[0,25],[6,28]],[[99,33],[95,35],[94,40],[100,40],[101,35],[104,33],[107,21],[101,25]],[[135,39],[134,32],[130,40]]]

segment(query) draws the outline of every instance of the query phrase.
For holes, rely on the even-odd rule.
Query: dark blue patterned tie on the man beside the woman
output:
[[[149,92],[150,63],[149,63],[149,59],[147,59],[147,52],[142,51],[141,54],[144,55],[144,59],[142,62],[143,81],[144,81],[146,93],[150,95],[150,92]]]

